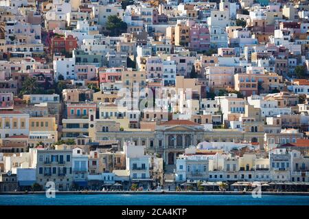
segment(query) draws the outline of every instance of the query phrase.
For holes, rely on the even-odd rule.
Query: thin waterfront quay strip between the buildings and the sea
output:
[[[0,192],[1,195],[27,195],[27,194],[45,194],[45,191],[40,192]],[[251,195],[252,192],[233,192],[233,191],[56,191],[56,194],[194,194],[194,195]],[[256,194],[256,193],[255,193]],[[261,192],[262,195],[296,195],[309,196],[309,192]]]

